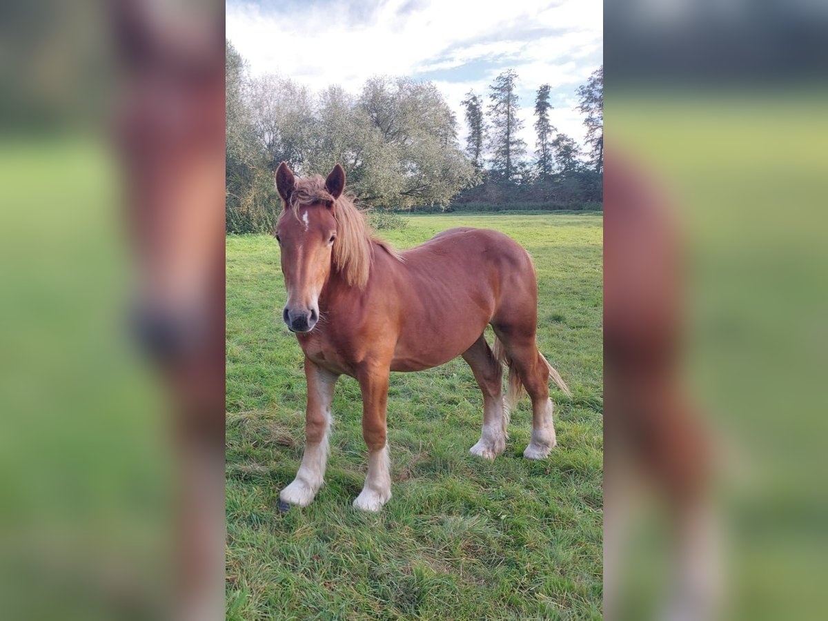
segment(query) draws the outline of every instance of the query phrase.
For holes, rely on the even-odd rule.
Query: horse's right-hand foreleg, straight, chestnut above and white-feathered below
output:
[[[354,500],[363,511],[379,511],[391,498],[391,463],[388,460],[385,412],[388,405],[388,366],[359,373],[363,395],[363,438],[368,445],[365,486]]]

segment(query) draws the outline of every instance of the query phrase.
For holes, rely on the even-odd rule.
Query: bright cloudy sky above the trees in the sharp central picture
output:
[[[551,123],[583,144],[575,89],[603,60],[603,0],[228,0],[226,33],[252,75],[277,74],[318,91],[358,94],[373,75],[436,84],[460,123],[469,89],[484,95],[517,71],[521,133],[535,150],[537,88],[550,84]]]

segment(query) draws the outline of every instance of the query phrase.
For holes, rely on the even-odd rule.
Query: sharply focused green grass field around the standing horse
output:
[[[393,498],[352,507],[367,450],[359,386],[341,378],[325,486],[281,515],[304,440],[305,378],[280,318],[279,251],[227,239],[228,619],[598,619],[602,599],[602,219],[598,214],[417,215],[383,232],[399,248],[440,230],[508,233],[532,253],[538,340],[574,393],[555,390],[558,447],[522,459],[527,399],[506,452],[469,455],[482,397],[455,359],[392,373]]]

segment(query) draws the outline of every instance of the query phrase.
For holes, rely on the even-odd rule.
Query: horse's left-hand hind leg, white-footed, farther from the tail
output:
[[[494,358],[484,335],[480,335],[474,345],[466,349],[463,359],[469,363],[474,379],[483,392],[483,431],[480,440],[469,452],[493,460],[506,448],[508,421],[503,416],[503,368]]]

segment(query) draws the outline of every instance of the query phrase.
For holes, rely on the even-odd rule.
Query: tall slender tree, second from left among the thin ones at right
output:
[[[492,170],[506,181],[512,181],[515,163],[526,152],[526,142],[517,137],[523,122],[517,117],[517,74],[503,71],[489,86],[491,118]]]

